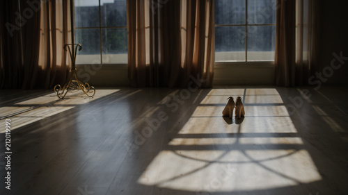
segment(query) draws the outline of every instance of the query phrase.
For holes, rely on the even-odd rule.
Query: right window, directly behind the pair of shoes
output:
[[[276,0],[216,0],[215,60],[273,61]]]

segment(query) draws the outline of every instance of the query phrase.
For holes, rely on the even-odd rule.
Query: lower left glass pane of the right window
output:
[[[245,61],[245,27],[215,27],[215,60]]]

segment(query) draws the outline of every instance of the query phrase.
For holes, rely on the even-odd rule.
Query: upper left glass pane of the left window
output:
[[[75,0],[75,27],[99,26],[99,0]]]

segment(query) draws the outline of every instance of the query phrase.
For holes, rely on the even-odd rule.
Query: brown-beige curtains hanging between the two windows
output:
[[[132,86],[212,87],[214,1],[128,0],[127,27]]]

